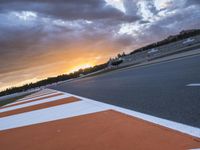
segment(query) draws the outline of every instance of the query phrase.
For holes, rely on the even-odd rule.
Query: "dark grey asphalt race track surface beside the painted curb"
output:
[[[128,68],[51,88],[200,128],[200,55]]]

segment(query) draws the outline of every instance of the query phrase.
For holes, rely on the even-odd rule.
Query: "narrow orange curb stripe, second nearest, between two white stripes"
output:
[[[62,99],[51,101],[51,102],[41,103],[41,104],[37,104],[33,106],[28,106],[28,107],[23,107],[23,108],[11,110],[11,111],[2,112],[0,113],[0,118],[10,116],[10,115],[16,115],[20,113],[25,113],[25,112],[29,112],[33,110],[39,110],[39,109],[49,108],[53,106],[58,106],[58,105],[71,103],[75,101],[79,101],[79,99],[76,97],[62,98]]]

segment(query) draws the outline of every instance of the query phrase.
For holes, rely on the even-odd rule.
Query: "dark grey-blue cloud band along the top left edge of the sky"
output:
[[[19,0],[19,1],[1,1],[1,11],[20,11],[29,10],[41,13],[43,15],[62,18],[67,20],[76,19],[122,19],[122,20],[136,20],[136,14],[125,15],[123,12],[114,7],[106,5],[103,0]]]

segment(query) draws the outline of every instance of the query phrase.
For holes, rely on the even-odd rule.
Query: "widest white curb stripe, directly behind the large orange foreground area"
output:
[[[106,110],[86,101],[77,101],[32,112],[0,118],[0,131]]]

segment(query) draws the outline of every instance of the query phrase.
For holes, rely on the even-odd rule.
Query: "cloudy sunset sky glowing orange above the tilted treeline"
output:
[[[200,0],[1,0],[0,90],[200,27]]]

